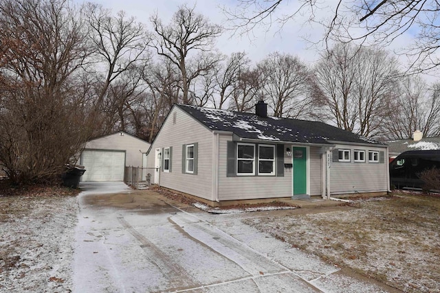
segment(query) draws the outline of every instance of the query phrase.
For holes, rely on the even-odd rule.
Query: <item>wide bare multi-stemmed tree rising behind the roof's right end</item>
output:
[[[339,44],[316,66],[323,118],[365,137],[377,135],[395,97],[397,61],[385,51]]]

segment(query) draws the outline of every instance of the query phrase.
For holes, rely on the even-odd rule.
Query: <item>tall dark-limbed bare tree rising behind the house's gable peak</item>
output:
[[[179,69],[182,102],[192,104],[190,88],[193,82],[215,67],[221,58],[213,54],[212,47],[221,34],[221,27],[187,5],[179,7],[169,25],[164,25],[157,14],[151,17],[151,23],[155,34],[151,47]]]

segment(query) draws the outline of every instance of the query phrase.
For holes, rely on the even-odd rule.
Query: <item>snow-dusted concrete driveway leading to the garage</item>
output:
[[[241,223],[270,212],[211,215],[123,183],[81,187],[74,292],[386,292]]]

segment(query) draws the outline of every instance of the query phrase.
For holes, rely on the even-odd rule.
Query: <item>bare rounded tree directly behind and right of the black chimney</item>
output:
[[[309,69],[298,57],[275,52],[257,65],[261,92],[275,117],[309,118],[313,101],[309,93]]]

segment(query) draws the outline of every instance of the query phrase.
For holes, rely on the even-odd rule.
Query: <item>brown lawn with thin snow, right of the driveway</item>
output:
[[[440,197],[401,194],[353,207],[244,222],[404,292],[440,292]]]

